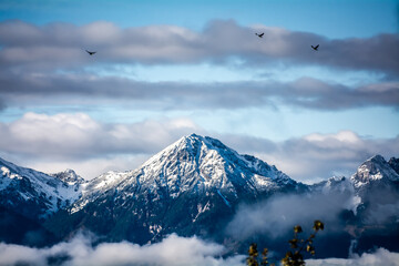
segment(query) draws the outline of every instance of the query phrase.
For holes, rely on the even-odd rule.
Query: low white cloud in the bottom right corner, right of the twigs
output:
[[[351,258],[326,258],[326,259],[307,259],[308,266],[398,266],[399,253],[391,253],[385,248],[378,248],[374,253],[364,253],[360,256],[355,255]]]

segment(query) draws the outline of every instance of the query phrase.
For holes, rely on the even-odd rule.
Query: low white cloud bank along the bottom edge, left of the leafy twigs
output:
[[[0,265],[57,265],[62,266],[125,266],[125,265],[243,265],[244,256],[222,258],[225,248],[197,237],[172,234],[162,242],[135,245],[127,242],[91,245],[91,239],[78,235],[71,242],[48,248],[32,248],[0,243]]]

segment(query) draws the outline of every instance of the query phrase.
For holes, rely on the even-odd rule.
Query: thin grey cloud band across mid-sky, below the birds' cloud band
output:
[[[364,106],[399,108],[399,82],[357,88],[301,78],[293,82],[142,82],[90,74],[0,74],[0,93],[9,105],[136,102],[142,108],[239,109],[290,105],[314,110]]]

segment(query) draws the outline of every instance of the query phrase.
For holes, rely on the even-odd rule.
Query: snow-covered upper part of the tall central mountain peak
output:
[[[295,183],[275,166],[241,155],[218,140],[196,134],[180,139],[151,157],[142,165],[142,174],[150,180],[162,176],[160,184],[164,182],[174,192],[184,191],[186,184],[264,191],[277,183]]]

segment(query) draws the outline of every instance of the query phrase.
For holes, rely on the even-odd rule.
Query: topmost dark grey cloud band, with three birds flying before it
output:
[[[256,31],[265,32],[265,37],[256,38]],[[320,51],[313,51],[310,44],[320,44]],[[84,49],[91,49],[99,51],[96,62],[224,63],[237,57],[248,65],[280,61],[399,72],[397,34],[329,40],[279,28],[242,27],[233,20],[213,21],[202,32],[174,25],[121,29],[110,22],[37,27],[22,21],[6,21],[0,23],[0,45],[2,68],[51,69],[92,64],[92,58],[84,54]]]

